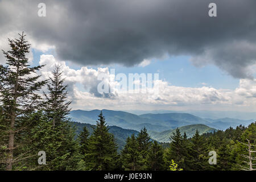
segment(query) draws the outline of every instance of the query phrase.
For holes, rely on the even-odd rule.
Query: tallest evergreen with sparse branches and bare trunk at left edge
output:
[[[9,171],[15,168],[17,160],[27,159],[27,155],[31,154],[23,151],[31,140],[25,139],[22,134],[29,135],[31,132],[34,122],[29,123],[28,118],[40,106],[40,97],[35,92],[46,84],[46,81],[38,81],[40,75],[36,74],[43,66],[28,65],[26,55],[29,53],[30,44],[25,40],[26,35],[22,32],[19,36],[19,39],[8,39],[11,50],[3,51],[6,66],[0,65],[0,132],[3,134],[0,148],[4,155],[2,162]]]

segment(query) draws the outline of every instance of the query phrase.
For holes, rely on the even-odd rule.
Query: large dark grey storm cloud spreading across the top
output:
[[[252,78],[255,0],[18,2],[10,6],[0,1],[0,9],[5,9],[0,11],[0,30],[24,30],[37,42],[55,45],[62,60],[132,66],[169,53],[191,56],[199,66],[215,64],[234,77]],[[46,3],[46,18],[37,16],[39,2]],[[210,2],[217,4],[217,18],[208,16]]]

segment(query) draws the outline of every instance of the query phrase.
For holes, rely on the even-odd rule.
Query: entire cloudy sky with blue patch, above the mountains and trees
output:
[[[46,16],[40,17],[42,2]],[[217,17],[208,15],[211,2]],[[24,31],[31,65],[46,64],[42,79],[62,65],[72,109],[253,112],[255,5],[254,0],[2,0],[0,49],[8,50],[7,38]],[[159,80],[146,92],[130,93],[118,89],[118,73],[127,78],[158,73]],[[102,74],[112,93],[98,92]]]

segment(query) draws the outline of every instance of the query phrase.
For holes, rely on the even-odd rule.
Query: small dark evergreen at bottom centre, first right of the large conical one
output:
[[[126,139],[125,147],[121,152],[121,159],[125,170],[135,171],[139,169],[141,155],[138,148],[139,143],[134,134]]]

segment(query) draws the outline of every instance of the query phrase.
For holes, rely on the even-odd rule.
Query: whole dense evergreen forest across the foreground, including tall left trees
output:
[[[146,128],[127,137],[118,151],[104,113],[93,128],[76,133],[70,118],[60,65],[42,80],[26,57],[24,34],[9,39],[10,50],[0,65],[0,170],[253,170],[256,123],[188,138],[179,129],[170,143],[152,140]],[[42,92],[46,86],[47,92]],[[78,134],[78,135],[77,135]],[[39,151],[46,164],[39,164]],[[209,164],[215,151],[216,164]]]

